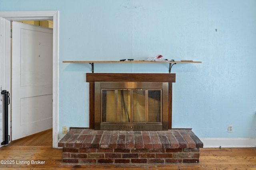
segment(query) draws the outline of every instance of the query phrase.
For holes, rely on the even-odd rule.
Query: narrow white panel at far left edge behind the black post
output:
[[[0,17],[0,91],[10,92],[10,30],[11,23]],[[0,97],[0,143],[4,141],[4,107],[3,95]],[[10,117],[10,105],[8,105]],[[10,135],[10,119],[8,120],[8,135]],[[2,147],[2,145],[0,145]]]

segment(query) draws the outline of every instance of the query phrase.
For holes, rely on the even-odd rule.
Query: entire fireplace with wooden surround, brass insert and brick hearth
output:
[[[200,139],[191,129],[172,129],[175,74],[91,73],[86,74],[86,82],[90,83],[90,127],[70,129],[61,139],[63,162],[199,162]]]

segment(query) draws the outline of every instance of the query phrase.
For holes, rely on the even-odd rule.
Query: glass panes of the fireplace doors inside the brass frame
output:
[[[162,123],[162,90],[102,89],[102,123]]]

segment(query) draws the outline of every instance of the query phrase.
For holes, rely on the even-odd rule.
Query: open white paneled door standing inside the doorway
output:
[[[52,128],[52,35],[12,23],[12,141]]]

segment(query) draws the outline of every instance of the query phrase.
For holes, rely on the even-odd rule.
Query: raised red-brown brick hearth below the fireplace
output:
[[[191,129],[96,131],[70,129],[58,143],[63,162],[76,164],[198,163],[203,143]]]

